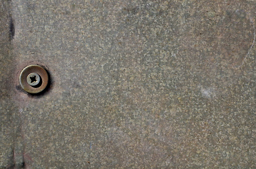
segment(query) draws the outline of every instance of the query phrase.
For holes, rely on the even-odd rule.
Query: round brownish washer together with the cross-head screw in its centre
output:
[[[29,93],[43,91],[48,84],[48,80],[47,71],[42,66],[36,64],[25,67],[20,75],[20,84]]]

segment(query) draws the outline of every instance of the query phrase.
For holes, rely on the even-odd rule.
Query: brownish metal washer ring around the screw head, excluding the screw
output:
[[[41,77],[41,85],[40,86],[32,86],[27,82],[27,77],[31,73],[37,73]],[[47,71],[40,65],[32,64],[25,67],[20,75],[20,84],[22,88],[29,93],[39,93],[43,91],[48,84],[48,73]]]

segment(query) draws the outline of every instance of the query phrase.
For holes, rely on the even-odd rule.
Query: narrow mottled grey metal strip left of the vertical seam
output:
[[[6,0],[0,1],[0,167],[11,166],[13,161],[14,132],[12,113],[16,110],[12,104],[10,90],[13,72],[13,57],[10,34],[10,5]],[[11,79],[11,80],[10,80]]]

